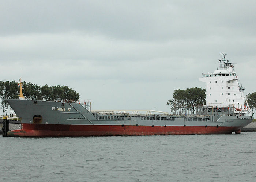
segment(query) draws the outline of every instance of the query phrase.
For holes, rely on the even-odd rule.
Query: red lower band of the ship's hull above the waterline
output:
[[[240,129],[241,127],[217,126],[120,126],[23,123],[21,130],[9,131],[7,137],[231,134],[233,131],[236,132]]]

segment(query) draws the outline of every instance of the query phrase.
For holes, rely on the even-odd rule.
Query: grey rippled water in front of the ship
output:
[[[0,181],[256,181],[256,132],[0,142]]]

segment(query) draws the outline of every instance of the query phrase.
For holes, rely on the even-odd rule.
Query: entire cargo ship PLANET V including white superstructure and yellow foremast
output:
[[[187,135],[240,133],[252,122],[252,111],[238,82],[233,63],[222,54],[219,68],[203,73],[206,104],[175,107],[173,113],[154,110],[91,110],[91,102],[8,99],[19,116],[20,130],[8,137],[66,137],[117,135]],[[244,103],[244,100],[246,103]]]

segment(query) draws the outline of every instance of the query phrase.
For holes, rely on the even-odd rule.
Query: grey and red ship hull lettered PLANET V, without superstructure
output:
[[[102,114],[77,103],[7,100],[22,122],[9,137],[230,134],[252,122],[251,116]]]

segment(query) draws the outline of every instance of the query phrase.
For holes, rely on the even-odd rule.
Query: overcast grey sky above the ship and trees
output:
[[[67,85],[93,109],[169,112],[221,53],[256,91],[256,1],[0,0],[0,80]]]

